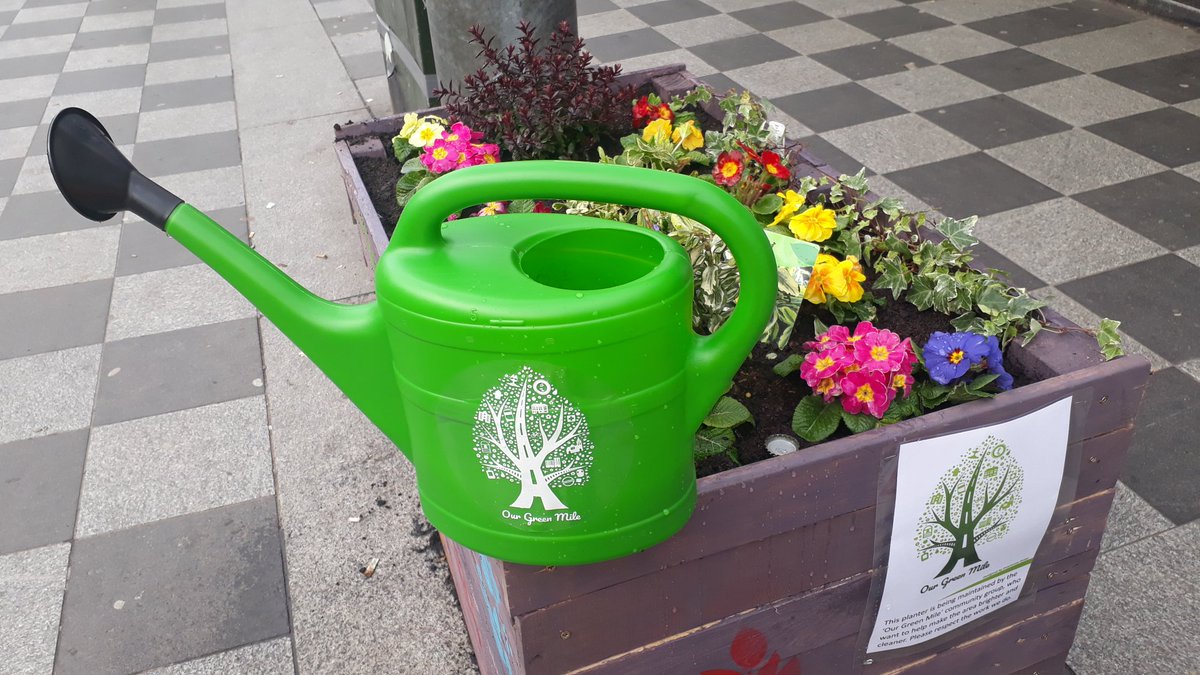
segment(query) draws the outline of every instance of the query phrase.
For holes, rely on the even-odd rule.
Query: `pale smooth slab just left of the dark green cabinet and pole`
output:
[[[242,31],[232,17],[229,40],[242,130],[344,113],[362,104],[337,52],[314,22]]]

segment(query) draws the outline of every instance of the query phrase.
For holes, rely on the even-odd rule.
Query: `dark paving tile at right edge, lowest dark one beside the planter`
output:
[[[1176,525],[1200,518],[1195,418],[1200,383],[1177,369],[1150,376],[1121,479]]]

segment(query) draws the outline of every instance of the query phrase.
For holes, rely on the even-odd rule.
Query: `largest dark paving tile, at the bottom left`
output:
[[[287,632],[275,498],[262,497],[76,542],[54,671],[138,673]]]

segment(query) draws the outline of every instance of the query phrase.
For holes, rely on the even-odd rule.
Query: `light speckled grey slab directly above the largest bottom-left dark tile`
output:
[[[97,426],[76,536],[272,494],[262,395]]]

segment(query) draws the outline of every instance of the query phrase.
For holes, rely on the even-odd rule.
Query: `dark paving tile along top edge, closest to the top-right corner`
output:
[[[965,24],[1013,44],[1032,44],[1079,35],[1102,28],[1112,28],[1134,20],[1134,14],[1114,11],[1106,4],[1064,2],[1051,7],[1039,7],[1028,12],[1016,12],[991,19]]]

